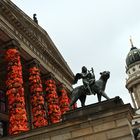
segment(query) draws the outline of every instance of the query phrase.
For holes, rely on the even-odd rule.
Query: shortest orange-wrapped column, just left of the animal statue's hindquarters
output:
[[[64,84],[59,84],[57,86],[58,95],[59,95],[59,106],[61,110],[61,114],[65,114],[67,111],[70,110],[69,106],[69,98],[66,91],[66,86]]]

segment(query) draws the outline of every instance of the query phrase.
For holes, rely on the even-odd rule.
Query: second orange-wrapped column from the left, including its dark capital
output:
[[[39,62],[36,59],[29,63],[29,87],[34,128],[48,125],[43,87],[40,78]]]

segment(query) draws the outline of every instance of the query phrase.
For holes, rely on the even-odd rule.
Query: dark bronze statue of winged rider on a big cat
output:
[[[99,102],[101,102],[102,96],[109,100],[109,97],[105,93],[105,87],[107,80],[110,77],[110,72],[103,71],[100,75],[99,80],[95,80],[93,68],[89,71],[85,66],[82,67],[82,72],[75,75],[74,84],[76,84],[79,79],[82,79],[83,85],[73,89],[70,106],[72,106],[78,99],[81,101],[81,106],[85,106],[86,95],[97,94]]]

